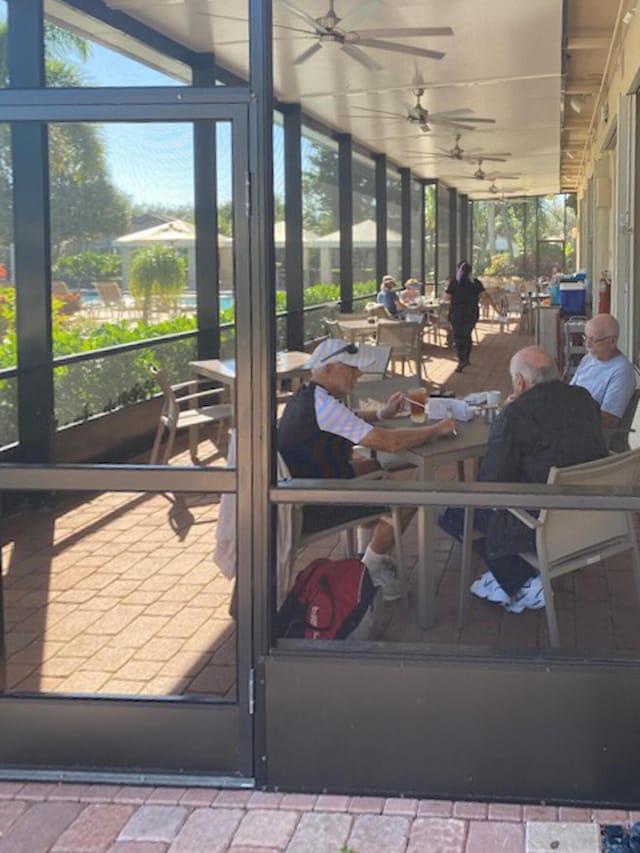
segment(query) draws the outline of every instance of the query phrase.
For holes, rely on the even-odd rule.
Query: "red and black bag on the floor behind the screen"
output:
[[[278,610],[278,637],[306,640],[344,640],[358,631],[366,639],[373,628],[372,610],[378,587],[360,560],[321,557],[303,569]],[[365,620],[366,621],[366,620]]]

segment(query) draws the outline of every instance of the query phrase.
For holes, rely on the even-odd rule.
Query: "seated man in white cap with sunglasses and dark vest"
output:
[[[289,400],[278,427],[278,450],[294,477],[350,479],[372,470],[371,459],[352,458],[355,444],[371,450],[398,453],[418,447],[455,431],[455,421],[410,429],[383,429],[375,422],[393,417],[403,406],[401,392],[392,394],[377,411],[352,412],[345,399],[363,369],[369,367],[364,352],[354,344],[329,339],[322,341],[311,356],[311,381]],[[374,463],[376,464],[376,463]],[[341,521],[370,515],[375,506],[306,506],[303,531],[332,527]],[[413,510],[403,512],[406,526]],[[404,590],[386,556],[393,547],[393,527],[380,520],[363,556],[374,584],[383,595],[400,598]]]

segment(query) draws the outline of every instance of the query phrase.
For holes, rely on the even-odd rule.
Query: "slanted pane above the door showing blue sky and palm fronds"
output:
[[[124,8],[123,8],[124,11]],[[144,4],[132,14],[141,20]],[[45,2],[46,85],[185,86],[191,70],[135,38],[61,2]],[[99,29],[100,40],[95,34]]]

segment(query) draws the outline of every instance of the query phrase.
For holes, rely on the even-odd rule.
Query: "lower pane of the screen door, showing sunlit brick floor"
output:
[[[11,513],[8,689],[234,699],[233,582],[212,558],[219,502],[59,493]]]

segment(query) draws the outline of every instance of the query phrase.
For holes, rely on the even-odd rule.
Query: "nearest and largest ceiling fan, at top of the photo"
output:
[[[423,56],[428,59],[442,59],[445,55],[441,51],[429,50],[424,47],[415,47],[409,44],[399,44],[398,42],[387,41],[390,37],[406,38],[416,36],[451,36],[453,30],[451,27],[385,27],[383,29],[349,29],[356,19],[362,17],[362,11],[368,5],[368,0],[359,9],[355,9],[344,18],[336,13],[334,8],[335,0],[329,0],[329,10],[324,15],[318,18],[313,18],[311,15],[293,6],[288,0],[276,0],[277,4],[286,9],[292,15],[295,15],[300,20],[307,24],[307,29],[299,29],[301,36],[314,38],[316,43],[303,51],[296,59],[293,60],[293,65],[301,65],[306,62],[326,44],[337,45],[347,56],[355,59],[365,68],[371,71],[379,71],[382,66],[365,53],[362,48],[371,48],[375,50],[388,50],[394,53],[405,53],[412,56]],[[291,28],[288,28],[291,29]],[[380,38],[380,37],[384,38]],[[292,38],[294,38],[292,36]]]

